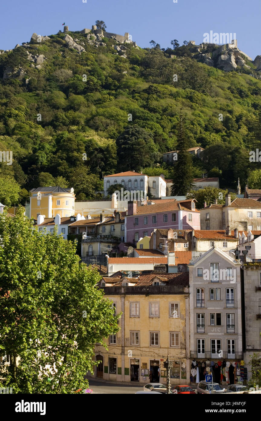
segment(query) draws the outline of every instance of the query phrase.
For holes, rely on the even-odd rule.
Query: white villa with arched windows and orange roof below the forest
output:
[[[108,195],[108,188],[112,185],[121,184],[128,191],[142,191],[146,198],[148,192],[153,197],[166,196],[166,181],[164,176],[147,176],[146,174],[136,173],[135,171],[125,171],[123,173],[110,174],[103,178],[104,195]],[[118,189],[115,189],[118,190]],[[123,199],[122,199],[123,200]]]

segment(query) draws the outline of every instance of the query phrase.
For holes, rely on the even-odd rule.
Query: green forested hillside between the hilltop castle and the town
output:
[[[181,109],[189,147],[205,148],[193,177],[219,176],[235,189],[238,177],[243,187],[259,174],[249,151],[261,149],[261,80],[200,63],[186,45],[174,58],[159,46],[117,53],[116,40],[92,45],[69,32],[79,53],[64,35],[0,55],[0,150],[13,151],[12,165],[0,163],[2,203],[24,203],[46,185],[94,198],[102,176],[119,171],[169,178],[162,153],[175,150]]]

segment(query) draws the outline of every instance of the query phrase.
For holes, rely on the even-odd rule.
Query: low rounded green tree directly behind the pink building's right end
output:
[[[204,202],[206,201],[207,206],[214,203],[214,200],[218,200],[218,205],[225,204],[225,196],[227,195],[228,190],[218,189],[217,187],[204,187],[204,189],[191,190],[187,194],[187,199],[196,199],[198,201],[196,208],[202,209],[204,207]],[[230,193],[231,202],[235,200],[237,195],[235,193]]]

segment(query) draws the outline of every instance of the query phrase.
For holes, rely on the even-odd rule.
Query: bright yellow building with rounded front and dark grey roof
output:
[[[30,190],[30,218],[38,215],[54,218],[57,213],[61,218],[74,215],[74,189],[62,187],[38,187]]]

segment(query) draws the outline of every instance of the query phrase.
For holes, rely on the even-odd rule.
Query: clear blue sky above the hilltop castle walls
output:
[[[237,45],[252,59],[261,54],[260,0],[24,0],[1,5],[0,49],[29,41],[33,32],[50,35],[62,29],[91,28],[97,19],[108,32],[129,32],[140,47],[153,39],[161,48],[177,39],[203,41],[205,32],[237,34]]]

